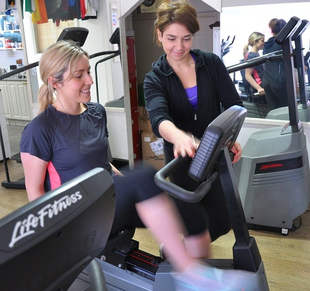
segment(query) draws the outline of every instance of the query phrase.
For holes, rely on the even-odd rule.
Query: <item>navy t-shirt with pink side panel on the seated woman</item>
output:
[[[22,132],[20,152],[48,162],[46,191],[96,167],[111,173],[106,110],[97,103],[86,105],[79,115],[49,105]]]

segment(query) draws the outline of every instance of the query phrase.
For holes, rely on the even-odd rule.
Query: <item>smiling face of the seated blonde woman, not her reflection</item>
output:
[[[93,78],[90,73],[90,64],[87,56],[83,55],[78,63],[71,79],[67,79],[69,71],[64,72],[63,82],[54,84],[57,90],[57,98],[68,105],[72,103],[87,103],[91,101],[91,85]]]

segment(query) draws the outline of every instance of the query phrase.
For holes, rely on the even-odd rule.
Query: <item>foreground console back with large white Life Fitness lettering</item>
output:
[[[0,290],[67,290],[107,243],[110,174],[95,168],[0,220]]]

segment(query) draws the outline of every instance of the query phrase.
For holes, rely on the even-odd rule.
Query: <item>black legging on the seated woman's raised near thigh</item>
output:
[[[116,205],[111,234],[124,227],[145,227],[137,214],[135,204],[163,192],[154,182],[155,173],[154,168],[144,166],[125,174],[124,177],[114,178]]]

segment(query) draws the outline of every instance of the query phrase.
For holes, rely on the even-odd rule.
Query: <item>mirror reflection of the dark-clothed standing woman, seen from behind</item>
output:
[[[284,19],[273,18],[269,21],[268,26],[272,37],[264,43],[263,55],[282,49],[282,46],[278,45],[275,39],[285,25]],[[283,61],[267,61],[264,64],[263,89],[268,110],[288,105]]]

